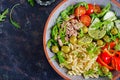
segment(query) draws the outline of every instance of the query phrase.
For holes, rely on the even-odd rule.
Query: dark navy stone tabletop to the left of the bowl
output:
[[[49,65],[42,43],[45,22],[60,1],[31,7],[27,0],[0,0],[0,13],[21,4],[12,14],[21,29],[11,25],[9,14],[0,22],[0,80],[63,80]]]

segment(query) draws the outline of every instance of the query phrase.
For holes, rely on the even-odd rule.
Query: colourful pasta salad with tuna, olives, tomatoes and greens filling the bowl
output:
[[[111,79],[120,71],[120,19],[110,8],[79,2],[58,16],[47,46],[69,75]]]

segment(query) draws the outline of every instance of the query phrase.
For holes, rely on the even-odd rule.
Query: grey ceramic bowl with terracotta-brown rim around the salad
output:
[[[88,3],[96,3],[101,6],[106,6],[107,3],[111,3],[112,8],[111,10],[116,12],[117,16],[120,16],[120,8],[116,4],[114,4],[110,0],[63,0],[61,1],[51,12],[45,28],[44,28],[44,35],[43,35],[43,46],[45,55],[52,66],[52,68],[65,80],[85,80],[82,76],[69,76],[66,74],[67,70],[65,68],[61,68],[56,60],[51,60],[51,57],[54,56],[54,53],[50,51],[50,49],[47,48],[46,43],[50,39],[50,32],[51,27],[55,24],[56,18],[59,16],[60,12],[66,9],[69,5],[76,4],[78,2],[86,1]],[[114,1],[114,0],[113,0]],[[119,4],[118,4],[119,5]],[[118,72],[113,72],[114,75],[118,74]],[[98,79],[88,79],[88,80],[108,80],[106,77],[99,77]]]

